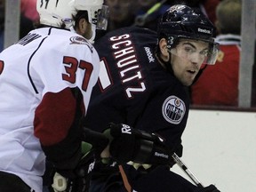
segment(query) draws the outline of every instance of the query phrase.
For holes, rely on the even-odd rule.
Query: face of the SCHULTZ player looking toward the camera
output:
[[[204,60],[207,58],[209,44],[203,41],[181,39],[171,50],[171,65],[174,76],[186,86],[193,83]]]

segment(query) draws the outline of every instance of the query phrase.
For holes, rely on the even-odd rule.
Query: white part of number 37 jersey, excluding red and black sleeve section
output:
[[[99,70],[92,44],[59,28],[35,29],[0,53],[0,171],[42,191],[45,156],[34,135],[36,107],[47,92],[78,87],[86,108]]]

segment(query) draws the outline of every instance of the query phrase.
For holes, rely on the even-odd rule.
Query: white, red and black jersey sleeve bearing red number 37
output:
[[[46,38],[31,59],[30,74],[41,100],[35,113],[35,135],[48,160],[69,170],[81,157],[81,120],[98,79],[100,60],[83,38],[47,47],[51,40]]]

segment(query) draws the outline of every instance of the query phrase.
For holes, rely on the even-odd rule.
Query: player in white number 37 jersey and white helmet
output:
[[[57,170],[76,169],[80,119],[100,68],[90,41],[106,28],[102,4],[37,0],[40,27],[1,52],[1,192],[41,192],[45,156]]]

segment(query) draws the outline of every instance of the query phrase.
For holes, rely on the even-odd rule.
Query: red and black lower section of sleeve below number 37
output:
[[[84,108],[76,89],[47,92],[35,112],[35,135],[45,156],[59,169],[73,169],[81,156],[81,118]]]

